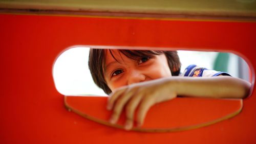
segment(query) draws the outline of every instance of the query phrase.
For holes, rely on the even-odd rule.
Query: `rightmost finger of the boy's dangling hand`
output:
[[[148,98],[145,98],[141,101],[141,104],[138,109],[137,121],[136,121],[138,127],[141,127],[143,125],[146,113],[152,105],[153,105],[153,101]]]

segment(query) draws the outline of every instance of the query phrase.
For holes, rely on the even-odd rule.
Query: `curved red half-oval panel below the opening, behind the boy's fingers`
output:
[[[65,105],[71,111],[84,118],[92,119],[104,125],[110,125],[111,111],[106,110],[106,97],[65,97]],[[185,105],[185,106],[184,106]],[[151,107],[142,128],[136,131],[166,132],[195,129],[215,124],[236,116],[243,107],[241,99],[203,99],[176,98]],[[165,111],[166,113],[164,113]],[[170,115],[166,117],[166,115]],[[123,129],[124,113],[118,125],[110,125]]]

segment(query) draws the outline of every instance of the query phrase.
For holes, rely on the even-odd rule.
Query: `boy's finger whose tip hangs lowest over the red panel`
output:
[[[137,95],[135,94],[133,98],[130,100],[130,102],[126,106],[126,122],[124,125],[124,129],[130,130],[133,127],[133,122],[134,122],[134,111],[136,107],[138,107],[141,99],[142,99],[142,94]]]

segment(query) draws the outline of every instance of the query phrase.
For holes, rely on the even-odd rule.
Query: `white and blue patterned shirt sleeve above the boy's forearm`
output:
[[[188,77],[213,77],[213,76],[219,76],[219,75],[230,76],[226,72],[208,70],[206,68],[198,67],[197,65],[189,65],[188,67],[186,67],[185,71],[181,74],[181,76],[188,76]]]

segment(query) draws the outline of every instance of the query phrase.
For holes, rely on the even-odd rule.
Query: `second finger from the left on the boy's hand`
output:
[[[113,113],[110,119],[110,123],[115,124],[117,122],[124,105],[127,103],[127,101],[130,100],[132,96],[133,96],[133,91],[123,93],[122,96],[119,96],[120,98],[116,101],[113,107]]]

